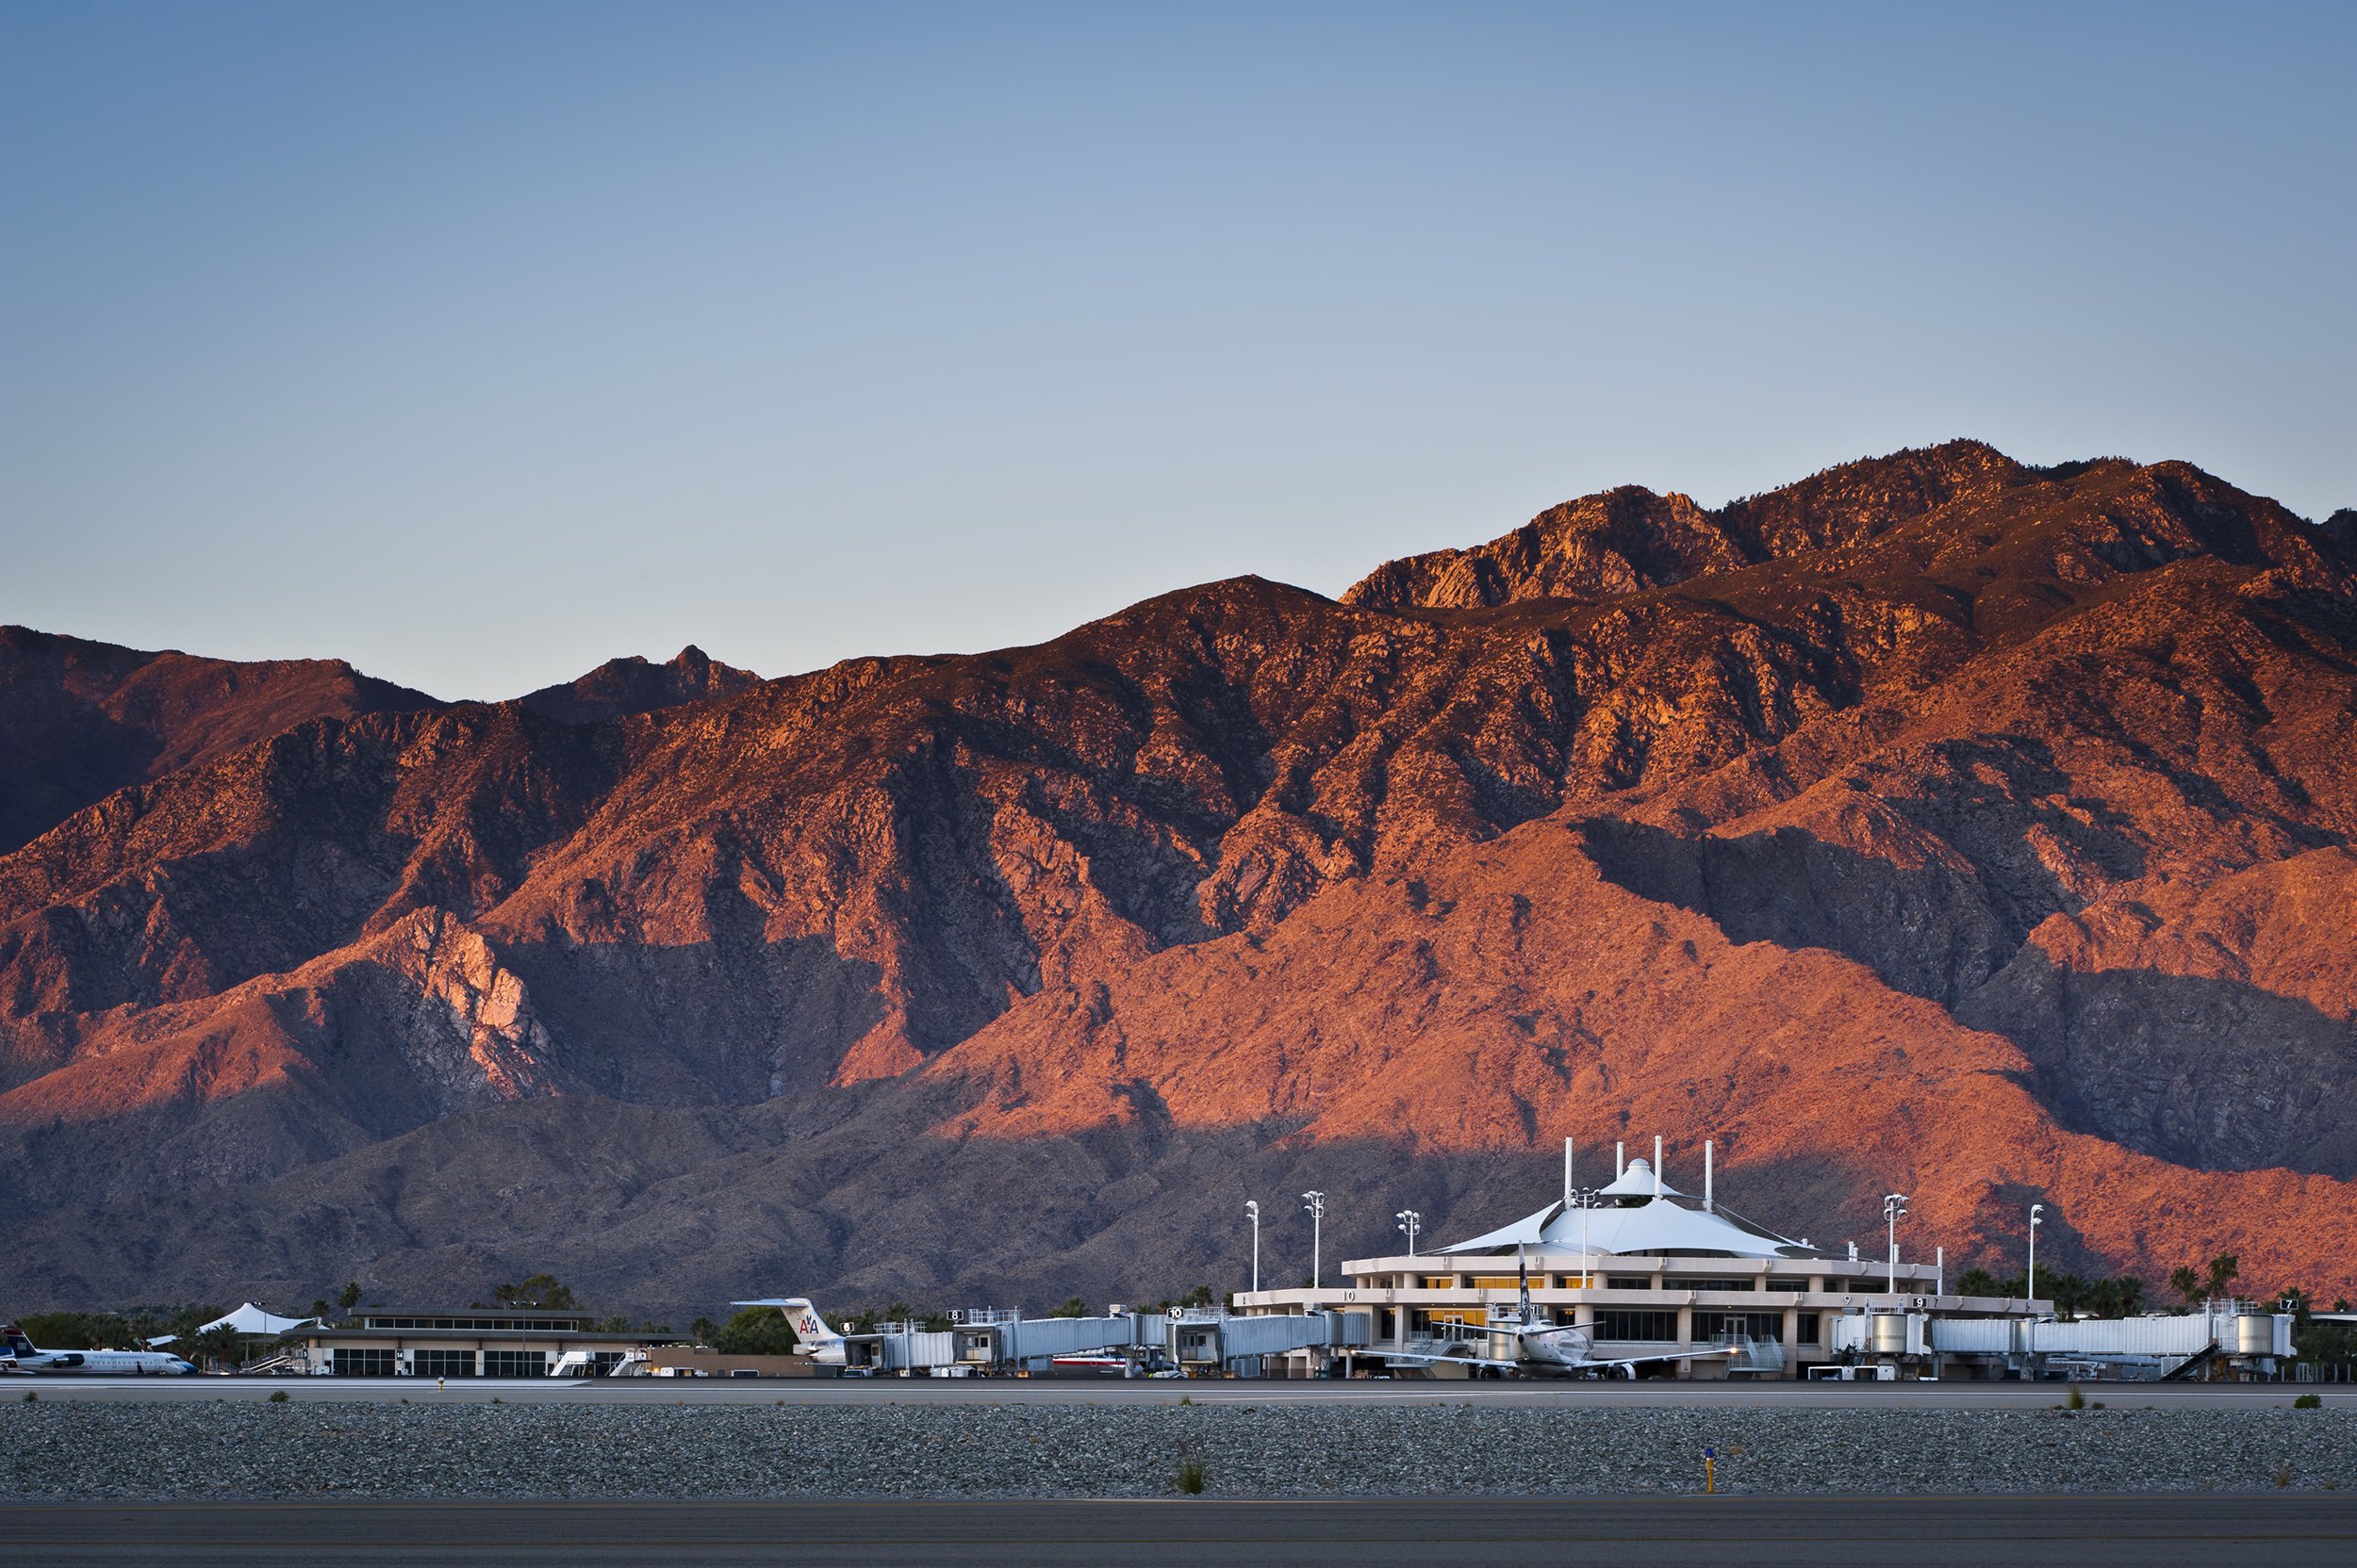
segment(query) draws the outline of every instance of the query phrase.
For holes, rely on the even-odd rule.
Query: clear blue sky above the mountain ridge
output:
[[[511,697],[1973,436],[2357,506],[2352,5],[0,0],[0,622]]]

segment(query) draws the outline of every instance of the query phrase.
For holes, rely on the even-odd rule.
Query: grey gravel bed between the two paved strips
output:
[[[2286,1401],[2289,1406],[2289,1401]],[[14,1502],[2357,1488],[2324,1410],[7,1403]]]

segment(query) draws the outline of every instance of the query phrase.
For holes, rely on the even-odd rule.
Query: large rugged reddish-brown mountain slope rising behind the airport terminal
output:
[[[1355,1255],[1664,1132],[1817,1241],[2041,1198],[2348,1293],[2352,523],[1952,443],[1341,603],[302,713],[0,857],[0,1274],[1153,1297],[1244,1196]]]

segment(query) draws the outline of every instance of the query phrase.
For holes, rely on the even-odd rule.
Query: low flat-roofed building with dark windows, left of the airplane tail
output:
[[[323,1377],[601,1377],[646,1333],[603,1333],[587,1311],[469,1307],[464,1311],[382,1311],[342,1323],[306,1323],[283,1337],[283,1370]]]

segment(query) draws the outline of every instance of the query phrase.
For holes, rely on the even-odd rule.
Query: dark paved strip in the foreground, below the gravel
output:
[[[1334,1502],[16,1504],[0,1563],[1516,1563],[2357,1561],[2357,1495]]]

